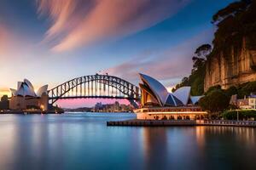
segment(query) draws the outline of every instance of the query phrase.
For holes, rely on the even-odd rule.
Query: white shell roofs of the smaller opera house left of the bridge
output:
[[[13,96],[30,96],[30,97],[41,97],[42,94],[47,94],[48,85],[44,85],[43,87],[38,89],[36,93],[32,83],[27,79],[24,79],[23,82],[18,82],[17,89],[10,88],[10,91]]]

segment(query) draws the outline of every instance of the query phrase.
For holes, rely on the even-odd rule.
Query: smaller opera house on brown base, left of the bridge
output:
[[[23,82],[18,82],[17,89],[10,89],[12,97],[9,101],[9,109],[47,111],[49,101],[47,88],[48,85],[44,85],[35,92],[32,83],[28,80],[24,79]]]

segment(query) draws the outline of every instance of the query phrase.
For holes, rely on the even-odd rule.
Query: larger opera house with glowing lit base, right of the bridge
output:
[[[171,94],[153,77],[143,74],[140,77],[142,99],[141,108],[135,111],[137,119],[196,120],[207,115],[197,105],[201,96],[191,96],[190,87],[178,88]]]

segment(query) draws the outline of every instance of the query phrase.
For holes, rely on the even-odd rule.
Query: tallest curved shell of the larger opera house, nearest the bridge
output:
[[[160,82],[155,80],[153,77],[149,77],[144,74],[140,74],[140,76],[143,82],[146,82],[148,87],[154,92],[154,95],[159,100],[160,105],[165,105],[166,99],[169,96],[167,89]]]

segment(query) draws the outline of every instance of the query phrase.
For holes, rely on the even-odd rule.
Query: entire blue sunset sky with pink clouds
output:
[[[24,78],[50,89],[106,72],[136,85],[142,72],[171,88],[189,75],[195,48],[212,42],[212,15],[232,2],[1,0],[0,96]]]

